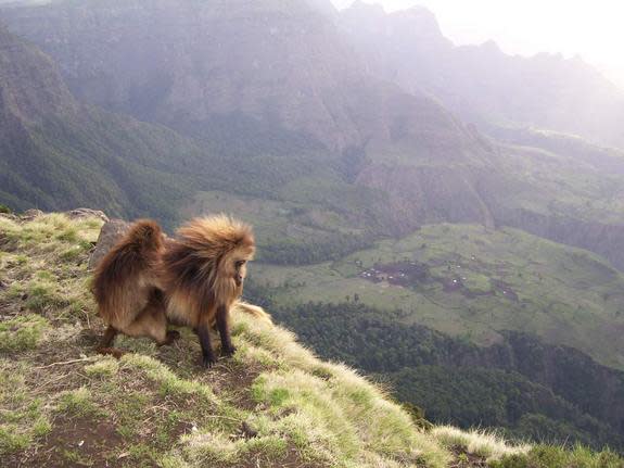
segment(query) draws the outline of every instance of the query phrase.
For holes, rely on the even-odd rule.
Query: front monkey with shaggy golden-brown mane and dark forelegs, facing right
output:
[[[225,215],[195,218],[167,244],[163,280],[167,317],[195,329],[204,364],[215,363],[209,328],[216,324],[221,349],[235,349],[229,332],[230,308],[243,291],[245,263],[253,258],[255,242],[250,226]]]

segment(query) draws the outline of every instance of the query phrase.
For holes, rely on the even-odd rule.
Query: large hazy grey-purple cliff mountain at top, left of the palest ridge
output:
[[[194,136],[244,116],[342,151],[433,117],[462,138],[432,100],[367,76],[327,5],[106,0],[5,18],[54,56],[80,99]]]

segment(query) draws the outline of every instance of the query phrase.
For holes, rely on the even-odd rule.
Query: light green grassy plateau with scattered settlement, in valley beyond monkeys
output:
[[[374,265],[405,261],[425,264],[429,278],[402,287],[361,277]],[[588,252],[514,229],[425,226],[333,263],[259,264],[252,279],[268,287],[278,304],[341,303],[357,294],[365,304],[400,308],[408,321],[479,344],[497,341],[500,330],[519,330],[624,367],[621,274]]]

